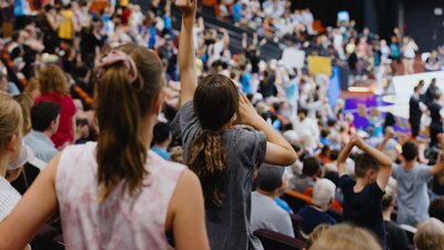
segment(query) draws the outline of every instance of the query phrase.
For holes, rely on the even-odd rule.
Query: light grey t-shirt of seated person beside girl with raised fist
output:
[[[269,229],[294,238],[290,213],[270,197],[259,192],[251,194],[251,229]]]

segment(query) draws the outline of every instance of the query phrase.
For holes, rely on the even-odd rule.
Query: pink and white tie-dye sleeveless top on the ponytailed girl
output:
[[[120,183],[99,202],[95,146],[71,146],[61,154],[56,192],[65,249],[172,249],[165,236],[167,211],[185,167],[150,151],[141,191],[131,198]]]

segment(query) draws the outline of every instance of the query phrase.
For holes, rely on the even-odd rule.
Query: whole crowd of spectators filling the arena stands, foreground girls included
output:
[[[310,10],[255,3],[225,2],[221,12],[239,27],[315,32]],[[229,32],[196,19],[196,1],[175,1],[180,30],[172,4],[151,1],[143,14],[127,1],[99,10],[49,1],[33,17],[12,12],[0,71],[1,250],[29,249],[44,224],[61,230],[67,249],[261,250],[261,229],[314,250],[444,249],[435,80],[415,87],[410,137],[389,114],[381,132],[363,132],[343,100],[330,104],[329,77],[262,60],[265,33],[250,43],[245,34],[234,57]],[[351,22],[315,40],[340,61],[379,56],[390,70],[403,54],[407,69],[417,48],[396,39],[357,34]],[[23,166],[42,171],[21,197],[11,182]]]

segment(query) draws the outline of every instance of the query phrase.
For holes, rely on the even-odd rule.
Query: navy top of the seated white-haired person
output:
[[[337,221],[325,212],[319,211],[312,206],[305,206],[299,210],[297,216],[304,219],[302,231],[310,234],[319,224],[335,224]]]

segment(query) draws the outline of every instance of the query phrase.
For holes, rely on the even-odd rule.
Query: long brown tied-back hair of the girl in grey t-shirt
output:
[[[222,129],[239,110],[234,83],[222,74],[205,77],[194,93],[194,111],[202,132],[191,143],[188,166],[202,183],[206,204],[222,206],[228,179]]]

